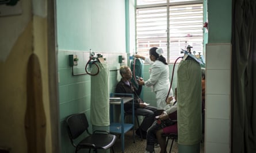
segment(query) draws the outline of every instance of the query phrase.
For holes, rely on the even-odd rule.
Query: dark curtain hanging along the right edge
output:
[[[232,8],[231,152],[256,152],[256,1]]]

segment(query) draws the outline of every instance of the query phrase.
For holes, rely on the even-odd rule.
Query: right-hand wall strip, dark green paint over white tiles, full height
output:
[[[215,91],[214,87],[219,87],[220,89],[230,89],[231,87],[229,81],[224,81],[225,83],[221,84],[223,80],[219,81],[219,84],[216,85],[216,81],[213,78],[221,76],[222,78],[226,78],[230,80],[231,71],[230,64],[223,65],[222,68],[214,66],[214,63],[223,63],[224,61],[230,61],[230,48],[224,49],[222,43],[229,45],[231,43],[232,37],[232,0],[208,0],[208,45],[215,46],[213,50],[211,47],[207,47],[206,50],[206,82],[205,82],[205,138],[204,138],[204,146],[205,152],[227,152],[230,151],[230,118],[223,116],[216,116],[216,114],[221,114],[219,109],[219,105],[214,103],[216,99],[220,99],[223,95],[227,94],[227,97],[230,96],[230,92],[221,93],[212,92]],[[232,45],[232,44],[231,44]],[[225,56],[221,55],[222,52],[226,52]],[[216,54],[215,54],[216,53]],[[218,55],[218,56],[209,56]],[[224,54],[223,54],[224,55]],[[218,58],[220,57],[221,58]],[[227,60],[225,60],[227,58]],[[223,70],[225,72],[223,73]],[[214,75],[207,75],[207,74]],[[216,88],[216,91],[217,88]],[[228,90],[227,90],[228,91]],[[224,103],[222,103],[224,102]],[[227,102],[227,103],[226,103]],[[223,108],[225,109],[226,114],[230,114],[230,100],[225,99],[224,101],[219,101],[219,103],[223,104]],[[210,107],[209,107],[210,106]],[[211,113],[213,112],[213,113]],[[212,126],[216,125],[216,126]],[[221,127],[220,127],[221,126]],[[221,129],[225,132],[220,132],[219,135],[216,135],[216,129]],[[220,136],[221,135],[221,136]],[[222,141],[226,139],[226,141]],[[220,140],[221,139],[221,140]],[[218,148],[218,151],[216,150]]]

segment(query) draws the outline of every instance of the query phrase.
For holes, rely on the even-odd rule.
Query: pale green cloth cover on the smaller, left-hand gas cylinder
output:
[[[91,124],[97,126],[109,125],[109,68],[100,62],[91,67]]]

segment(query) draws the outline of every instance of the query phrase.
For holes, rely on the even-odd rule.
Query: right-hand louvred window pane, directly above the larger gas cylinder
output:
[[[170,62],[181,56],[181,49],[193,46],[202,52],[202,4],[170,7]]]

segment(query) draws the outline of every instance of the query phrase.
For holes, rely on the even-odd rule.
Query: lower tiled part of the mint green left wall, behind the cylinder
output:
[[[72,69],[68,63],[68,55],[78,56],[78,66],[74,66],[74,74],[85,73],[85,65],[88,52],[71,52],[59,50],[58,73],[59,73],[59,108],[60,108],[60,131],[62,152],[74,152],[68,139],[64,119],[72,113],[86,113],[90,123],[90,97],[91,76],[89,74],[72,76]],[[109,92],[114,92],[117,81],[120,80],[118,56],[126,53],[101,53],[106,57],[109,65]],[[90,127],[90,131],[91,131]]]

